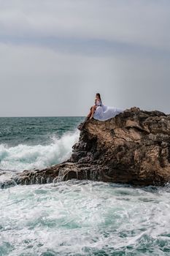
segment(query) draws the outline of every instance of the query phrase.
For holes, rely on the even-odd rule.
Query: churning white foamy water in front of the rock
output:
[[[0,191],[0,255],[169,255],[170,189],[93,181]]]

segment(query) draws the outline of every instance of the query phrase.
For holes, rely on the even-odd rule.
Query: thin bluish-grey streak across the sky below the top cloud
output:
[[[147,45],[106,39],[82,39],[73,37],[0,37],[0,42],[9,45],[33,45],[63,53],[93,56],[150,56],[153,59],[169,59],[170,50],[155,49]]]

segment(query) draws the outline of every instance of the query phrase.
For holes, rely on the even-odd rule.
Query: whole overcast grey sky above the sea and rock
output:
[[[0,116],[170,113],[169,0],[0,0]]]

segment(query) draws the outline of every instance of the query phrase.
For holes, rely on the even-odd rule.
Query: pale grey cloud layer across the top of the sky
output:
[[[5,3],[0,1],[1,35],[106,39],[169,50],[168,0]]]

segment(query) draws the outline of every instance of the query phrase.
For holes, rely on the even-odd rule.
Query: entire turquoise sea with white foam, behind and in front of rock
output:
[[[83,120],[0,118],[0,178],[68,159]],[[170,186],[74,179],[0,189],[4,255],[170,255]]]

